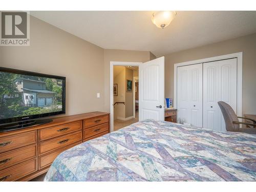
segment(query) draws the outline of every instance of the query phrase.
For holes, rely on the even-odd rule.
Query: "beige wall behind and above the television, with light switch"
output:
[[[32,16],[30,39],[28,47],[0,47],[0,66],[66,76],[67,115],[104,111],[102,48]]]

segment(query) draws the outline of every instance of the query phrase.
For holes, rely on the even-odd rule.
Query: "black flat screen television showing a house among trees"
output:
[[[0,67],[0,132],[50,122],[65,114],[66,77]]]

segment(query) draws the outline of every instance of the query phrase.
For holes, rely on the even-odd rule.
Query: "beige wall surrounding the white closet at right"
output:
[[[243,114],[256,114],[256,33],[165,55],[165,97],[174,98],[175,63],[238,52],[243,52]]]

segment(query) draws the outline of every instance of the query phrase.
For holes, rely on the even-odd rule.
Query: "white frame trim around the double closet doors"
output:
[[[174,108],[177,108],[177,69],[181,66],[195,65],[204,62],[218,61],[224,59],[237,58],[237,116],[242,117],[242,77],[243,77],[243,52],[220,55],[204,59],[192,60],[174,64]]]

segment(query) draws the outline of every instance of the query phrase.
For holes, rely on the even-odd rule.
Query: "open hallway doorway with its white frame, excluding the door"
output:
[[[141,62],[110,62],[111,132],[139,121],[135,106],[134,77],[139,77]],[[138,79],[136,79],[138,81]],[[136,101],[139,102],[139,99]]]

